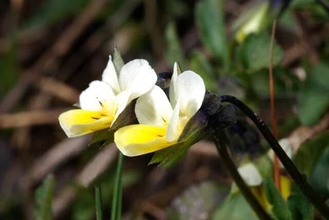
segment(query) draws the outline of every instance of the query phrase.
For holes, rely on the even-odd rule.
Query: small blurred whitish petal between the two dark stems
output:
[[[237,171],[239,171],[248,186],[259,186],[263,182],[261,174],[252,163],[244,164]]]

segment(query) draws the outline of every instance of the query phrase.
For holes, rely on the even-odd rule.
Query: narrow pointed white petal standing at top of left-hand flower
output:
[[[117,72],[114,68],[111,56],[108,56],[106,68],[103,71],[102,81],[111,86],[115,94],[120,93],[120,85]]]

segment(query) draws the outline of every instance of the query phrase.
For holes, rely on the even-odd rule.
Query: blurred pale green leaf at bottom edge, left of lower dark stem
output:
[[[213,220],[257,220],[258,218],[253,213],[246,199],[241,193],[231,194],[225,203],[218,208]]]

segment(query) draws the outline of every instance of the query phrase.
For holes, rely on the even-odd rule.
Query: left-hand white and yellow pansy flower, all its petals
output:
[[[93,81],[82,91],[79,97],[81,109],[62,113],[60,125],[68,137],[111,127],[124,108],[147,93],[156,81],[156,73],[148,61],[130,61],[117,74],[109,56],[102,81]]]

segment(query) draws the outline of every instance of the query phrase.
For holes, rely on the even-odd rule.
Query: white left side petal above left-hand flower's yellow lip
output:
[[[116,103],[111,86],[101,81],[91,82],[89,87],[80,94],[80,106],[84,110],[106,111],[112,115]]]

